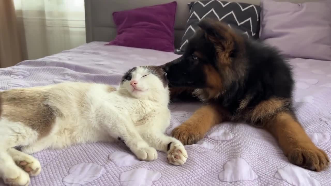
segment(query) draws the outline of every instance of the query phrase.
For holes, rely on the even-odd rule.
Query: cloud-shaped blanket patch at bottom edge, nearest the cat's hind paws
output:
[[[106,169],[95,163],[78,163],[69,169],[69,175],[63,178],[65,186],[85,185],[103,174]]]

